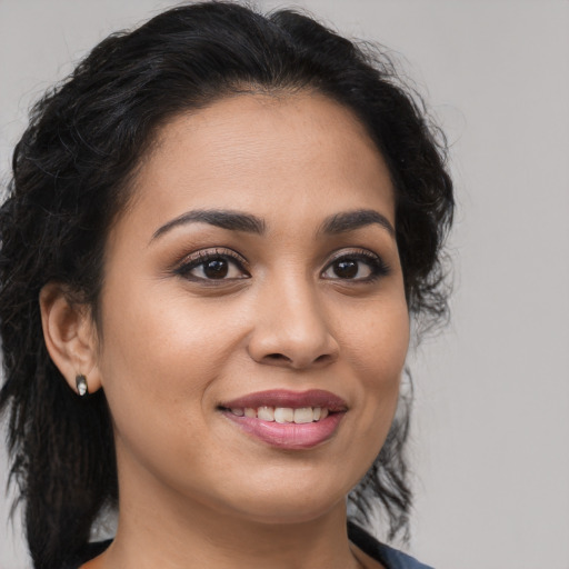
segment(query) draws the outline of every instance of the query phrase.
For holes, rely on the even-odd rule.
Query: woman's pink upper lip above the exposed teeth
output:
[[[221,403],[226,409],[257,409],[259,407],[321,407],[329,411],[346,411],[348,403],[330,391],[323,389],[310,389],[308,391],[290,391],[287,389],[270,389],[258,391],[231,401]]]

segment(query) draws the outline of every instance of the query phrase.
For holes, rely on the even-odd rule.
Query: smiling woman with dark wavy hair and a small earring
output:
[[[0,218],[34,566],[423,567],[347,530],[346,497],[405,533],[400,378],[452,207],[389,62],[310,18],[207,2],[96,47]]]

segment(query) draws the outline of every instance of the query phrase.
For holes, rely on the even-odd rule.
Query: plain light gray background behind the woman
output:
[[[4,177],[30,102],[107,33],[170,4],[0,0]],[[296,4],[405,56],[451,143],[453,318],[410,358],[411,550],[438,569],[567,569],[569,2]],[[0,488],[6,461],[1,450]],[[29,562],[8,503],[0,568],[20,569]]]

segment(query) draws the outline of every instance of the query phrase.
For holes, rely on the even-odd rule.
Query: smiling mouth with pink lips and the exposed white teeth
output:
[[[218,410],[247,436],[279,449],[309,449],[337,432],[348,405],[323,390],[272,390],[224,402]]]

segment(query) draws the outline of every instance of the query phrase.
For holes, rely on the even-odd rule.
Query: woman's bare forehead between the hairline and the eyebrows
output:
[[[378,208],[395,223],[379,150],[350,110],[317,93],[241,94],[176,117],[141,164],[134,198],[149,228],[220,206],[267,219]]]

